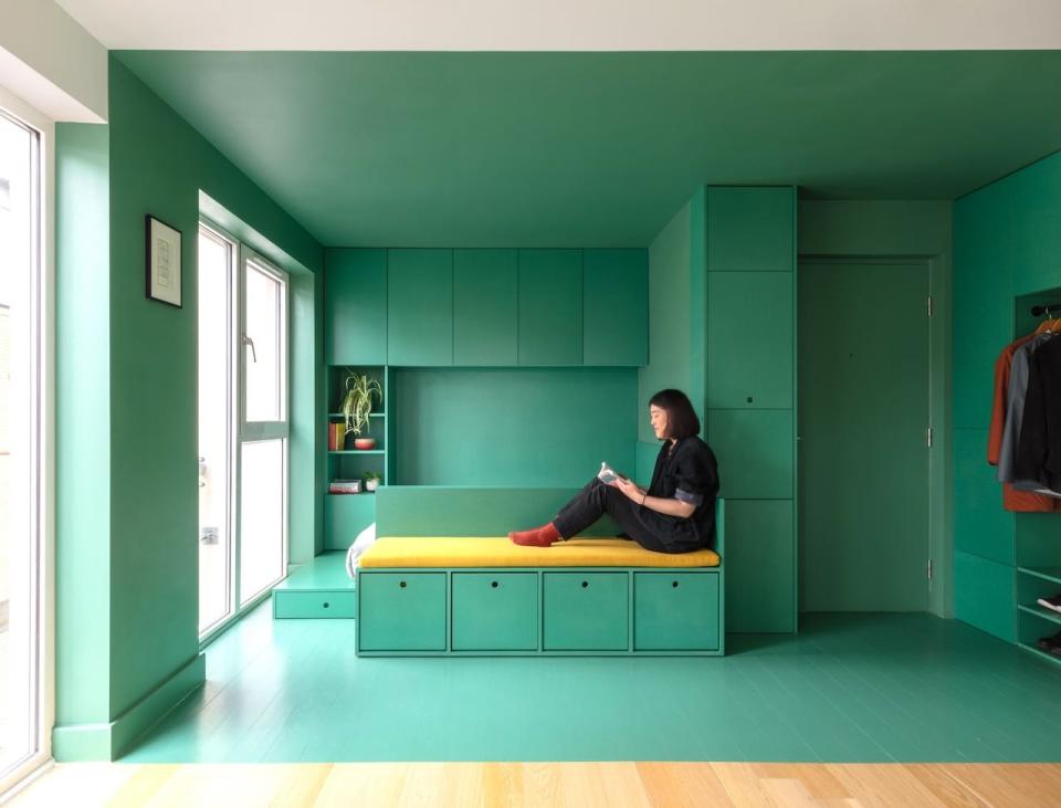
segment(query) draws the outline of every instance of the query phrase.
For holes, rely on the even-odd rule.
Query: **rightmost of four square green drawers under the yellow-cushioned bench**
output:
[[[714,651],[718,648],[718,576],[712,573],[634,573],[635,651]]]

